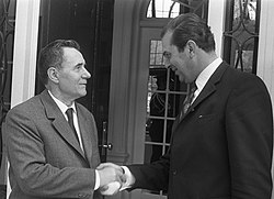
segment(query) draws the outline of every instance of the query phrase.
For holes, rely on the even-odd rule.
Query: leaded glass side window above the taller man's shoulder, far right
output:
[[[256,73],[260,0],[227,1],[224,59],[235,68]]]

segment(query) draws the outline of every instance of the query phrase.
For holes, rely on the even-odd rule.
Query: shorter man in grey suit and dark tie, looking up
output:
[[[95,169],[100,154],[94,118],[75,101],[87,95],[91,77],[79,44],[48,44],[39,54],[38,74],[46,89],[11,109],[5,119],[10,199],[101,198],[95,190],[119,180],[122,170]]]

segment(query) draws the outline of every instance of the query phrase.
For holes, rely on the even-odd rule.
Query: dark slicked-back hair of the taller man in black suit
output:
[[[194,41],[205,52],[215,51],[214,34],[207,23],[195,13],[180,14],[172,19],[162,30],[161,37],[171,32],[172,45],[183,51],[189,40]]]

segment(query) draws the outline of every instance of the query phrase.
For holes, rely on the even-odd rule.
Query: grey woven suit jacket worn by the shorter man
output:
[[[9,111],[3,134],[10,199],[96,198],[96,126],[83,106],[76,109],[84,153],[47,90]]]

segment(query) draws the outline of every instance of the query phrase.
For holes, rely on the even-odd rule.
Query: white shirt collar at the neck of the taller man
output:
[[[212,77],[214,71],[218,68],[218,66],[221,64],[222,59],[216,58],[214,62],[212,62],[197,77],[195,84],[197,86],[197,89],[199,92],[205,87],[208,79]]]

